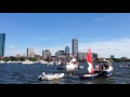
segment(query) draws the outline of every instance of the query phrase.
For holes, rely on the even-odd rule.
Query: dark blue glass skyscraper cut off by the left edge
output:
[[[4,56],[5,50],[5,33],[0,33],[0,56]]]

